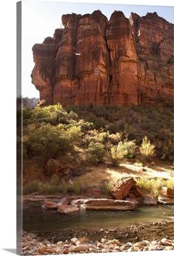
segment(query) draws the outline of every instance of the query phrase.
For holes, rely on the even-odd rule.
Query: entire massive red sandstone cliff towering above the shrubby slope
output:
[[[45,104],[153,104],[173,97],[173,24],[157,13],[110,20],[62,16],[64,29],[33,46],[32,83]]]

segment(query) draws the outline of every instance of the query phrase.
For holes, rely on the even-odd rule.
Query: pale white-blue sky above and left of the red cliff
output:
[[[81,2],[81,3],[77,3]],[[22,96],[39,97],[39,92],[31,84],[31,71],[34,67],[31,48],[36,43],[42,43],[47,36],[53,36],[54,30],[61,27],[61,15],[66,13],[92,13],[100,10],[107,19],[115,10],[121,10],[129,18],[131,12],[140,16],[147,12],[157,12],[160,17],[174,23],[174,7],[146,5],[148,1],[131,1],[132,4],[118,4],[124,1],[76,1],[75,3],[61,1],[22,1]],[[128,2],[128,1],[127,1]],[[109,4],[108,4],[109,3]],[[117,4],[113,4],[117,3]],[[163,3],[164,4],[164,3]],[[167,4],[167,1],[166,1]]]

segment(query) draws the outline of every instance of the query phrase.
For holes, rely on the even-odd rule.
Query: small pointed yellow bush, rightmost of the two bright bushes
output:
[[[145,160],[150,160],[151,157],[155,156],[155,145],[151,144],[150,140],[145,136],[139,147],[139,151]]]

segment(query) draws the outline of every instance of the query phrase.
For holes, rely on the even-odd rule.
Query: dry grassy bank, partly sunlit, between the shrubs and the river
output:
[[[59,159],[61,163],[65,164],[70,159],[69,156]],[[72,161],[73,163],[73,161]],[[82,165],[82,163],[81,163]],[[137,166],[138,165],[138,166]],[[74,163],[74,167],[78,166]],[[24,161],[24,186],[28,191],[40,191],[48,195],[49,191],[54,194],[54,191],[59,191],[66,195],[73,193],[74,195],[81,195],[89,188],[101,188],[102,193],[107,194],[111,186],[117,179],[122,177],[134,177],[134,179],[144,179],[145,188],[148,187],[149,179],[166,179],[168,186],[173,186],[174,168],[170,163],[155,161],[148,166],[136,164],[133,161],[125,162],[117,167],[109,167],[108,164],[99,164],[99,166],[81,166],[83,172],[76,177],[70,177],[71,184],[68,180],[60,182],[58,186],[53,184],[51,179],[46,179],[43,175],[43,163],[38,161],[36,157],[33,159],[26,159]],[[142,179],[143,178],[143,179]],[[167,184],[167,183],[166,183]],[[42,185],[42,186],[41,186]],[[38,189],[39,188],[39,189]],[[157,190],[157,189],[156,189]],[[45,192],[44,192],[45,191]]]

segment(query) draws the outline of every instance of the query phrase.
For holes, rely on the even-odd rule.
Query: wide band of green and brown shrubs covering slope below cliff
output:
[[[35,109],[26,106],[22,113],[23,156],[40,155],[44,159],[49,156],[58,157],[60,154],[72,152],[73,141],[78,139],[83,149],[89,147],[92,141],[102,144],[102,147],[113,155],[113,159],[134,157],[134,150],[130,151],[128,141],[136,141],[141,156],[152,157],[155,152],[157,157],[172,161],[173,103],[154,100],[156,106],[75,105],[67,111],[61,104],[45,107],[41,104]],[[145,136],[152,144],[148,145],[146,141],[141,145]],[[151,153],[147,154],[145,150],[151,150]],[[88,160],[93,162],[94,156],[95,154],[89,152]],[[95,164],[97,161],[100,162],[98,157]]]

